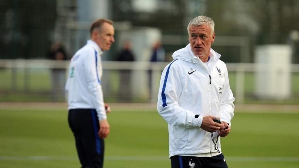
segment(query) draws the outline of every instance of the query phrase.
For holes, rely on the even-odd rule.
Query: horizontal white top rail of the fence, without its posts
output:
[[[56,61],[47,59],[0,59],[0,68],[68,68],[69,60]],[[105,70],[163,70],[169,62],[118,62],[118,61],[102,61]],[[259,63],[226,63],[228,71],[245,71],[258,72],[269,71],[263,65],[276,64],[259,64]],[[257,67],[261,67],[258,68]],[[271,70],[270,70],[271,71]],[[291,64],[290,71],[298,73],[299,64]]]

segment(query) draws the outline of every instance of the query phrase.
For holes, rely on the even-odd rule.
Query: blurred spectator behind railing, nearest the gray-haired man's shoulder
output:
[[[155,42],[153,48],[152,48],[152,56],[150,59],[150,62],[164,62],[165,61],[165,50],[162,48],[161,42],[157,41]],[[148,71],[148,77],[149,77],[149,95],[150,99],[152,100],[152,70]]]

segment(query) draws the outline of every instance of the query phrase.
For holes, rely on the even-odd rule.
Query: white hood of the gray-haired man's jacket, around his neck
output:
[[[219,58],[220,58],[220,54],[218,54],[216,51],[214,51],[212,48],[210,49],[210,61],[216,63]],[[190,43],[187,44],[187,46],[185,48],[181,48],[177,51],[175,51],[172,54],[173,59],[181,59],[184,61],[188,61],[188,62],[193,62],[193,63],[202,63],[202,61],[193,54],[191,47],[190,47]]]

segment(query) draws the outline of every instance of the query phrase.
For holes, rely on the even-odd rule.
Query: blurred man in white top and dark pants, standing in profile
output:
[[[103,167],[104,138],[110,132],[106,113],[110,107],[103,101],[101,87],[101,54],[114,42],[113,22],[94,21],[91,40],[72,57],[68,91],[68,123],[74,133],[77,153],[82,167]]]

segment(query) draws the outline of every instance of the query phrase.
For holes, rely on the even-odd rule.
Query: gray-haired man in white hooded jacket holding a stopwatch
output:
[[[231,131],[235,98],[226,65],[211,49],[214,22],[198,16],[187,30],[190,43],[173,53],[158,95],[158,112],[168,123],[171,167],[227,167],[219,136]]]

